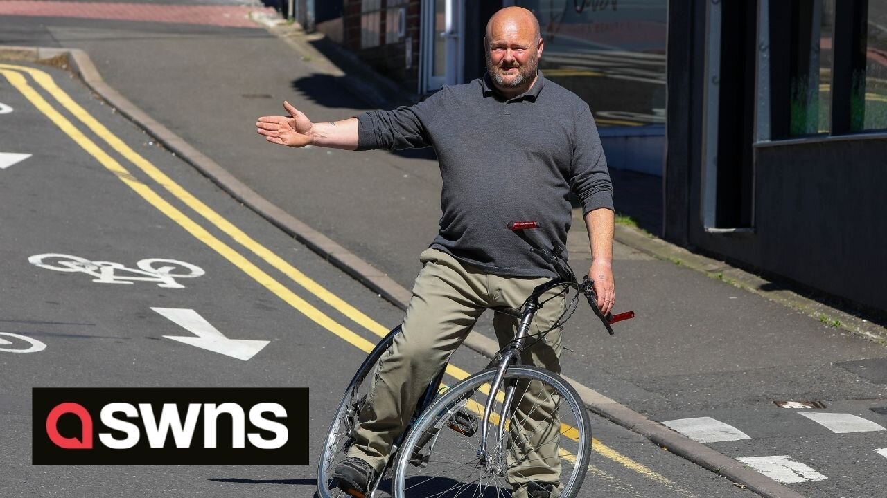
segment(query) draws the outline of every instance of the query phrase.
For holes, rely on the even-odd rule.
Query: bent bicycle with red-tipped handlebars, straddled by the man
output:
[[[547,249],[535,234],[527,235],[533,232],[524,231],[537,228],[536,222],[512,222],[507,228],[521,235],[558,277],[534,289],[521,309],[492,308],[520,319],[514,338],[484,370],[458,384],[442,389],[443,370],[432,379],[411,423],[395,441],[385,468],[370,486],[369,496],[358,498],[373,498],[392,474],[389,492],[394,498],[406,498],[408,493],[409,498],[503,498],[521,486],[526,486],[532,498],[573,498],[582,485],[592,441],[585,405],[557,374],[521,365],[521,354],[535,344],[530,340],[545,340],[549,331],[569,320],[580,294],[610,335],[614,335],[613,323],[632,318],[634,312],[602,315],[593,281],[585,276],[578,283],[561,257],[561,247]],[[538,337],[530,335],[533,318],[547,301],[540,301],[541,296],[557,287],[562,287],[557,295],[563,294],[564,299],[569,289],[577,293],[550,328],[535,335]],[[370,373],[399,331],[398,326],[389,332],[367,356],[336,410],[318,463],[320,498],[350,498],[338,490],[331,474],[350,445],[350,433],[365,404]],[[534,461],[546,464],[534,466]],[[468,475],[458,477],[457,472],[463,471]],[[539,471],[547,473],[540,475]]]

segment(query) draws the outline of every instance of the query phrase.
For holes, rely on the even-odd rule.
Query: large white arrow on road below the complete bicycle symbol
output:
[[[244,362],[255,356],[259,351],[262,351],[262,348],[268,346],[268,343],[271,342],[267,340],[226,338],[222,335],[222,332],[217,331],[216,327],[213,327],[193,309],[177,307],[152,307],[151,309],[197,336],[196,338],[163,337],[184,342],[184,344],[190,344],[191,346],[201,347],[213,353],[225,354]]]

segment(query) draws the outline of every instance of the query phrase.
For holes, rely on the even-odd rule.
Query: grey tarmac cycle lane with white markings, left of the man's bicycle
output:
[[[57,74],[59,82],[63,82],[59,75],[67,77]],[[341,347],[340,339],[318,330],[302,313],[145,203],[10,89],[2,85],[0,101],[10,105],[13,113],[4,116],[0,150],[25,147],[34,155],[5,168],[0,177],[5,283],[0,330],[42,340],[47,348],[35,354],[0,355],[0,370],[5,372],[0,389],[2,411],[6,425],[17,428],[4,437],[8,462],[14,462],[4,472],[4,496],[240,495],[246,486],[210,479],[252,479],[257,484],[248,489],[258,487],[255,491],[271,495],[291,494],[292,485],[313,489],[313,481],[299,482],[310,480],[313,467],[308,465],[295,471],[249,465],[127,470],[30,465],[29,400],[34,386],[307,386],[314,394],[310,429],[311,449],[316,453],[323,432],[318,427],[327,423],[323,414],[338,401],[324,393],[340,391],[363,354],[357,348]],[[83,89],[79,97],[86,97],[84,105],[92,104],[91,113],[130,126],[98,102],[89,102]],[[175,164],[168,152],[148,145],[149,138],[130,128],[115,132],[156,164]],[[214,191],[199,175],[189,173],[189,188],[209,198],[215,193],[226,217],[249,227],[275,252],[287,253],[288,261],[309,268],[313,277],[337,292],[348,294],[350,289],[349,300],[359,302],[381,322],[396,320],[399,313],[387,303],[313,253],[294,246],[288,237]],[[83,272],[62,273],[28,263],[29,257],[43,253],[120,262],[130,268],[137,268],[139,260],[164,257],[197,265],[206,273],[178,279],[183,289],[163,288],[156,282],[103,284]],[[43,262],[52,266],[51,261]],[[306,300],[322,305],[305,294]],[[271,344],[247,362],[185,345],[164,336],[191,332],[152,307],[194,309],[229,338],[270,340]],[[343,316],[336,319],[346,321]]]

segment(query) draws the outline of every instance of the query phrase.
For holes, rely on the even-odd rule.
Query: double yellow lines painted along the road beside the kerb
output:
[[[62,105],[68,113],[71,113],[78,121],[85,125],[86,128],[89,128],[92,133],[114,149],[114,151],[121,154],[126,160],[129,160],[130,163],[150,177],[154,182],[161,185],[166,191],[169,191],[169,193],[175,198],[182,201],[185,206],[190,207],[195,213],[200,214],[200,216],[214,225],[217,229],[222,230],[226,235],[232,237],[232,239],[239,245],[246,248],[251,253],[254,253],[273,268],[277,268],[281,273],[293,280],[294,283],[299,284],[306,291],[317,296],[327,305],[334,307],[342,315],[347,316],[350,320],[364,327],[366,330],[371,331],[380,337],[385,336],[389,332],[386,327],[375,322],[356,307],[352,307],[344,300],[341,300],[341,298],[334,295],[332,292],[329,292],[321,284],[318,284],[309,276],[306,276],[301,271],[294,268],[264,245],[256,242],[255,239],[249,237],[242,230],[239,230],[231,222],[225,220],[224,217],[217,214],[216,211],[201,202],[200,199],[195,198],[190,192],[185,191],[181,185],[169,178],[168,175],[165,175],[150,161],[145,160],[144,157],[133,151],[129,145],[123,143],[120,138],[115,136],[114,133],[93,118],[90,113],[87,113],[81,105],[77,104],[64,90],[59,88],[49,74],[33,67],[16,66],[11,64],[0,64],[0,74],[3,74],[15,89],[18,89],[20,93],[31,102],[31,104],[64,131],[67,136],[70,136],[76,144],[80,145],[84,151],[88,152],[93,158],[98,160],[102,166],[106,167],[108,171],[116,175],[117,178],[130,187],[130,189],[135,191],[141,198],[144,198],[145,201],[157,208],[161,213],[167,215],[172,221],[177,222],[179,226],[193,237],[200,240],[200,242],[208,245],[213,251],[222,255],[226,260],[231,261],[234,266],[252,277],[259,284],[262,284],[281,300],[286,301],[287,304],[294,307],[302,313],[302,315],[305,315],[313,322],[318,323],[318,325],[327,331],[333,332],[336,336],[344,339],[349,344],[357,346],[357,348],[365,353],[369,353],[373,349],[373,343],[360,337],[355,332],[350,331],[341,323],[334,321],[328,315],[320,311],[317,307],[312,306],[309,302],[300,298],[294,292],[289,290],[287,286],[281,284],[277,279],[266,273],[262,268],[257,267],[254,263],[247,260],[246,257],[234,250],[231,245],[225,244],[201,227],[197,222],[194,222],[188,215],[182,213],[182,211],[176,206],[169,204],[166,199],[153,191],[151,187],[137,180],[137,178],[130,174],[130,171],[123,167],[120,162],[114,160],[114,158],[102,150],[88,136],[85,136],[80,129],[76,128],[71,121],[59,113],[59,111],[50,105],[40,93],[32,88],[27,82],[25,74],[29,75],[41,88],[43,88],[43,90],[55,98],[55,100]],[[467,371],[459,369],[459,367],[454,365],[447,366],[446,373],[457,380],[462,380],[469,375]],[[655,471],[648,469],[646,466],[634,462],[627,456],[621,455],[615,450],[606,447],[600,443],[599,440],[594,440],[593,442],[593,449],[600,453],[600,455],[604,455],[617,463],[621,463],[625,467],[632,469],[632,471],[636,471],[649,479],[654,479],[661,484],[665,484],[666,486],[674,485],[670,479],[667,479]]]

